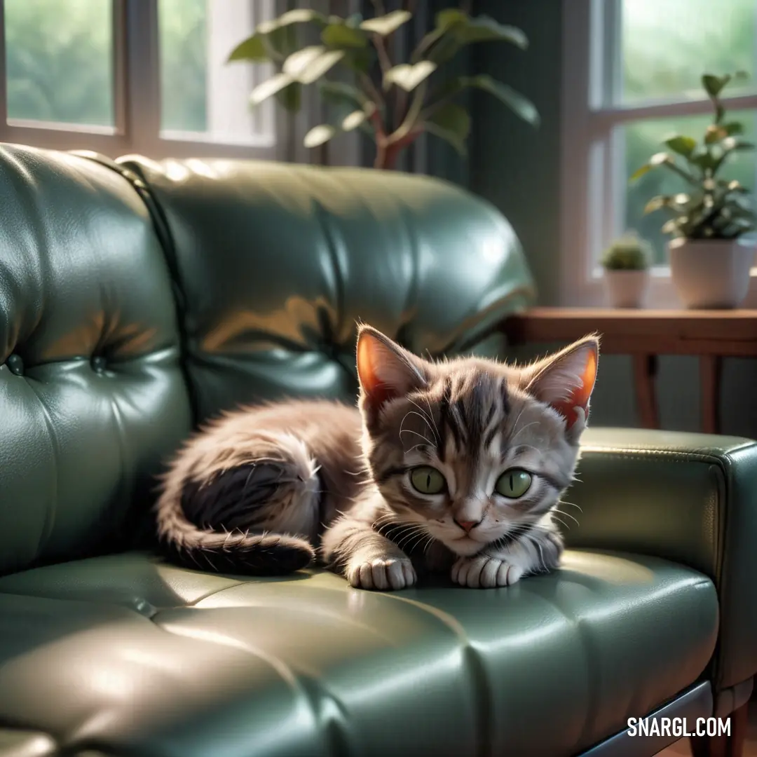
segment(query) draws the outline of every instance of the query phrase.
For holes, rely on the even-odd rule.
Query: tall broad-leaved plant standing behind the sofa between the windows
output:
[[[466,45],[509,42],[525,50],[528,40],[521,30],[488,16],[472,17],[448,8],[436,15],[434,28],[408,60],[397,62],[391,36],[413,14],[407,8],[383,13],[380,0],[373,5],[377,15],[369,19],[297,10],[257,26],[229,56],[229,61],[269,61],[276,67],[274,76],[254,89],[251,104],[276,96],[288,111],[296,112],[302,87],[316,85],[332,106],[332,118],[307,132],[305,146],[316,147],[339,132],[363,129],[375,141],[376,168],[393,168],[401,151],[424,132],[464,154],[471,120],[456,99],[466,89],[494,95],[523,120],[537,125],[534,104],[491,76],[445,76],[444,65]]]

